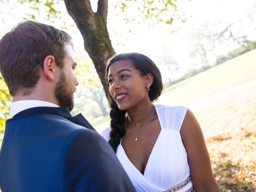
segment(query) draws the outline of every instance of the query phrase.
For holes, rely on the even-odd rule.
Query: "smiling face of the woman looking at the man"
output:
[[[109,92],[120,110],[149,101],[147,80],[147,76],[141,76],[130,60],[116,61],[108,69]]]

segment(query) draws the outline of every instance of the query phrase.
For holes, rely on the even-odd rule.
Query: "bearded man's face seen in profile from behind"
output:
[[[66,55],[64,58],[64,66],[61,70],[60,79],[55,87],[55,97],[60,107],[68,107],[71,111],[74,108],[74,91],[78,85],[78,81],[74,72],[76,61],[72,47],[65,46]]]

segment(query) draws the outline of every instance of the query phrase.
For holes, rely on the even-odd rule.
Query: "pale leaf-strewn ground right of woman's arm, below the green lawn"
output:
[[[256,83],[194,108],[223,192],[256,191]]]

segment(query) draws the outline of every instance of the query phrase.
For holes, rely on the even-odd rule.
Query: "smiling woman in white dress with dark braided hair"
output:
[[[184,106],[153,105],[163,89],[159,69],[138,53],[107,62],[112,146],[138,192],[220,191],[201,128]]]

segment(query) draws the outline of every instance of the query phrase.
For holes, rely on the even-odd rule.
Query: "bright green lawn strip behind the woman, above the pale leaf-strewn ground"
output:
[[[164,89],[156,104],[188,105],[256,78],[256,49]],[[94,122],[101,132],[110,118]]]

